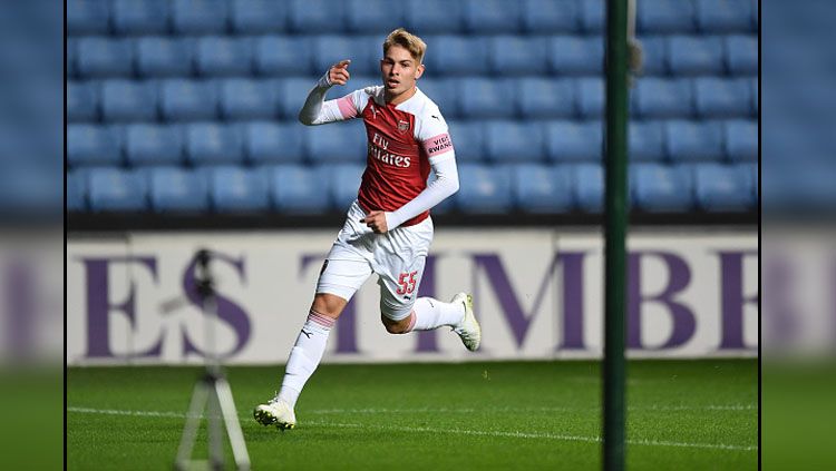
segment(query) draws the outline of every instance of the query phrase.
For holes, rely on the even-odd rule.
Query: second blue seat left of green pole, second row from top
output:
[[[495,36],[489,43],[489,62],[497,76],[535,76],[548,71],[545,38]]]

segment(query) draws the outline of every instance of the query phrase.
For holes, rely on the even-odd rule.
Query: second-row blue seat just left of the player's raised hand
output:
[[[263,36],[254,42],[254,66],[261,75],[309,75],[313,56],[313,41],[307,37]],[[327,70],[313,70],[322,76]],[[313,87],[313,84],[311,84]]]

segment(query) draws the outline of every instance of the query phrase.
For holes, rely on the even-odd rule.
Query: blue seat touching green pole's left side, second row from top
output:
[[[604,70],[604,40],[600,36],[555,36],[548,40],[548,63],[561,76],[592,76]]]

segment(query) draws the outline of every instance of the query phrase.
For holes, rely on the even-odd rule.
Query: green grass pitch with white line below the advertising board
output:
[[[68,369],[68,469],[171,469],[201,372]],[[255,470],[600,469],[597,362],[321,365],[288,432],[252,419],[282,373],[227,369]],[[756,469],[757,447],[756,360],[629,363],[629,469]]]

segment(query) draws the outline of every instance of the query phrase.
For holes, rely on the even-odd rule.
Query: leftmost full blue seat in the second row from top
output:
[[[133,48],[127,39],[100,37],[78,40],[76,68],[84,77],[129,76],[133,70]]]

